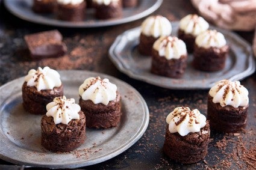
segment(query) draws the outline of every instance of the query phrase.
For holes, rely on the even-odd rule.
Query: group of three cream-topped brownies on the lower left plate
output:
[[[115,127],[120,122],[120,94],[108,79],[90,77],[79,88],[80,105],[63,96],[57,71],[30,70],[22,86],[23,108],[41,118],[42,146],[53,152],[72,151],[86,140],[86,126]],[[80,107],[81,106],[81,107]]]

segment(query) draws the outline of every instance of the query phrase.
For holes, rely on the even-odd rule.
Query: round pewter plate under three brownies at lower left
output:
[[[0,87],[0,158],[19,165],[47,168],[76,168],[93,165],[122,153],[137,142],[149,123],[145,100],[133,87],[102,73],[90,71],[58,71],[64,95],[78,103],[78,87],[88,77],[100,76],[117,85],[122,97],[122,117],[112,129],[86,129],[86,142],[70,153],[51,153],[41,146],[40,120],[22,107],[24,77]]]

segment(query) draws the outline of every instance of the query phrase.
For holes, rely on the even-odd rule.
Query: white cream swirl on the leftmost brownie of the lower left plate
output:
[[[52,90],[54,87],[61,86],[60,74],[49,67],[31,69],[25,76],[25,82],[28,87],[36,87],[37,91]]]

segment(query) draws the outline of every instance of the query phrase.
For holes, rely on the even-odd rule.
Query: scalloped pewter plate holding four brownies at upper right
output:
[[[177,36],[179,22],[172,22],[172,35]],[[239,35],[225,29],[210,26],[225,36],[229,45],[225,68],[216,72],[204,72],[192,67],[193,55],[189,54],[187,68],[181,79],[159,76],[150,71],[151,57],[143,56],[137,50],[140,27],[130,29],[119,35],[109,50],[111,61],[128,76],[158,87],[195,90],[211,88],[215,82],[222,79],[241,80],[255,71],[255,59],[251,45]],[[210,64],[210,63],[209,63]]]

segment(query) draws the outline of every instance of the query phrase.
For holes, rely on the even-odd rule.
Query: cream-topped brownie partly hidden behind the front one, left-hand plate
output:
[[[22,86],[23,108],[26,111],[45,114],[45,106],[58,96],[63,96],[63,84],[57,71],[49,67],[28,71]]]

